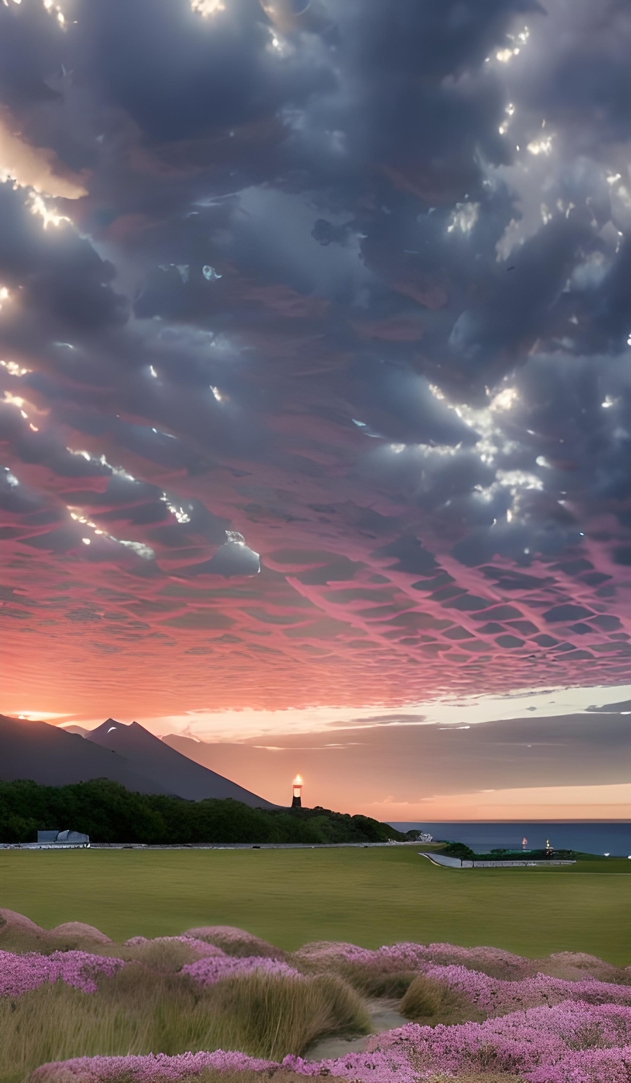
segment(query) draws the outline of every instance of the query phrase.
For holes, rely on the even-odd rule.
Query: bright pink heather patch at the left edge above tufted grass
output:
[[[84,993],[94,993],[100,975],[111,977],[123,966],[121,958],[90,955],[84,951],[56,951],[52,955],[37,952],[14,955],[0,951],[0,995],[19,996],[45,981],[60,980]]]

